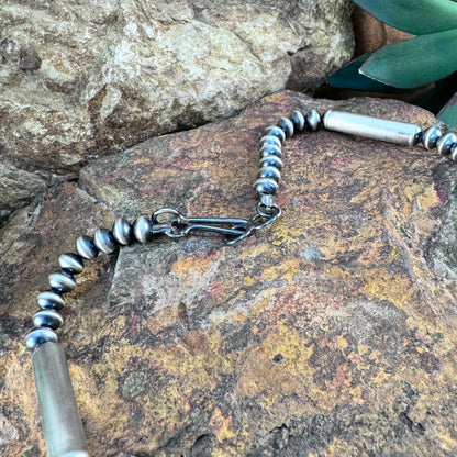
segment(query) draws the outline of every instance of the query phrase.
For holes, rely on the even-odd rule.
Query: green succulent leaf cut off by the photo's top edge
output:
[[[354,0],[392,27],[425,35],[457,27],[457,3],[452,0]]]

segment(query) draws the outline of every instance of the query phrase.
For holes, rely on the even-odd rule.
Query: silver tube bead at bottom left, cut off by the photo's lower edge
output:
[[[64,350],[47,342],[32,354],[47,457],[89,457]]]

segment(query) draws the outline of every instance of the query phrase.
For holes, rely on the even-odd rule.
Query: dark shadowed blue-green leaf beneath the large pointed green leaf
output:
[[[404,93],[411,91],[410,89],[397,89],[395,87],[387,86],[361,75],[359,68],[372,54],[372,52],[367,53],[349,62],[349,64],[331,76],[328,83],[333,87],[364,90],[367,92]]]

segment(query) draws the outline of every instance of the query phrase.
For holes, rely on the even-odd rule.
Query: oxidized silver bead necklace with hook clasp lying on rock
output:
[[[337,111],[327,111],[322,124],[327,130],[404,145],[412,146],[421,141],[427,149],[437,147],[441,155],[454,161],[457,158],[456,135],[442,135],[435,126],[422,133],[414,124]],[[100,252],[112,253],[119,245],[126,245],[132,241],[146,243],[159,235],[182,237],[192,232],[215,232],[224,235],[227,244],[235,244],[268,226],[281,214],[274,198],[282,168],[281,146],[285,140],[303,130],[315,131],[320,125],[321,116],[316,111],[305,115],[294,111],[290,118],[281,118],[278,125],[266,130],[266,135],[260,140],[260,171],[255,183],[259,203],[250,220],[185,218],[175,210],[161,209],[154,212],[151,220],[140,216],[134,224],[119,219],[111,231],[101,228],[93,237],[78,238],[77,253],[60,256],[62,270],[49,276],[52,289],[38,296],[38,305],[43,311],[35,314],[33,321],[36,330],[25,339],[26,346],[33,350],[35,380],[49,457],[88,456],[65,356],[54,332],[63,323],[58,311],[65,304],[64,296],[76,287],[74,276],[82,271],[85,260],[96,258]]]

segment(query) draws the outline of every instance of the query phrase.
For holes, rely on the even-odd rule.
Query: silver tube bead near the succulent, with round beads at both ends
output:
[[[388,143],[414,146],[421,140],[421,127],[405,122],[330,110],[323,119],[324,127]]]

